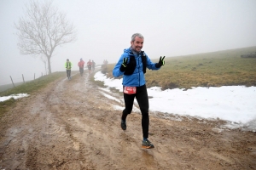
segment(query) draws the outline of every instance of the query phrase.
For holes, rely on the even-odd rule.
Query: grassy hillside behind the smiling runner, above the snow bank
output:
[[[168,57],[160,71],[145,74],[147,87],[166,88],[256,86],[256,58],[241,54],[256,52],[256,47],[238,48],[205,54]],[[117,60],[119,58],[117,57]],[[158,59],[152,59],[158,62]],[[108,65],[108,77],[115,64]]]

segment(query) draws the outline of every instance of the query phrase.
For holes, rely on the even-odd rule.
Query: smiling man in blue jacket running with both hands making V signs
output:
[[[144,37],[140,33],[131,36],[131,47],[126,48],[124,53],[113,68],[113,77],[123,76],[123,93],[125,99],[125,110],[121,116],[121,128],[126,130],[126,117],[131,114],[134,99],[142,112],[143,141],[142,147],[145,149],[154,148],[148,140],[149,127],[149,103],[146,80],[144,74],[146,69],[160,70],[165,65],[165,57],[160,57],[158,63],[153,63],[144,51],[142,51]]]

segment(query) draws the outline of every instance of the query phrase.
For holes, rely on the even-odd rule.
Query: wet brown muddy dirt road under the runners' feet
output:
[[[256,169],[256,133],[218,132],[222,121],[150,112],[155,148],[142,149],[141,115],[128,116],[124,132],[113,109],[124,105],[105,97],[122,95],[90,77],[62,78],[19,99],[0,125],[0,170]]]

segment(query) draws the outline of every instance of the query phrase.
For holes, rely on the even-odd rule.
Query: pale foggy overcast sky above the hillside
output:
[[[29,0],[0,0],[0,85],[45,73],[44,63],[17,48],[14,24]],[[255,0],[55,0],[78,31],[76,42],[56,48],[52,72],[65,71],[66,59],[77,63],[103,59],[115,63],[130,47],[131,35],[145,37],[149,58],[207,53],[256,46]]]

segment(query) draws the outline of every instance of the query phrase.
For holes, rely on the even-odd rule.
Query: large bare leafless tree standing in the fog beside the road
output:
[[[52,2],[31,1],[26,4],[26,13],[15,24],[20,54],[42,56],[47,59],[49,74],[50,59],[56,47],[76,40],[76,31],[69,23],[66,14],[54,8]]]

